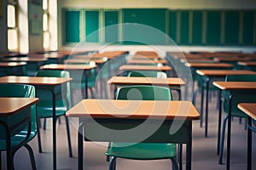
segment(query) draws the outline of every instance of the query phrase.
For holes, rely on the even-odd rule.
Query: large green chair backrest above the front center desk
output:
[[[172,100],[169,88],[158,86],[127,86],[119,88],[116,99]]]

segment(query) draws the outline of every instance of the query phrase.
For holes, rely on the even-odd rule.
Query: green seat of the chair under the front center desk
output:
[[[154,143],[117,143],[114,142],[106,152],[107,156],[116,156],[134,160],[169,159],[177,156],[176,144]]]

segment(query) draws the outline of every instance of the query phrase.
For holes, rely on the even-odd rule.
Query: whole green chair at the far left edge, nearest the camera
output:
[[[21,85],[21,84],[0,84],[0,97],[17,97],[17,98],[35,98],[35,88],[31,85]],[[19,150],[22,146],[26,148],[29,152],[29,156],[32,163],[32,169],[37,169],[36,162],[34,159],[34,154],[31,146],[28,144],[38,133],[38,123],[37,123],[37,111],[36,105],[32,105],[31,107],[31,128],[28,126],[22,127],[21,129],[17,129],[15,135],[11,136],[11,157],[13,163],[13,157],[17,150]],[[18,117],[20,118],[20,117]],[[17,119],[16,116],[12,118],[12,122]],[[0,119],[1,122],[1,119]],[[3,128],[0,123],[0,161],[1,161],[1,151],[6,150],[6,139],[2,138]],[[29,136],[28,136],[29,135]],[[0,163],[1,166],[1,163]],[[8,165],[14,167],[14,165]],[[0,167],[1,169],[1,167]]]

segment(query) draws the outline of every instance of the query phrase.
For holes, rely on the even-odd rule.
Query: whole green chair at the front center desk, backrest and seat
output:
[[[116,99],[171,100],[172,94],[170,93],[169,88],[156,86],[129,86],[119,88]],[[112,157],[109,161],[109,169],[115,169],[115,162],[118,157],[133,160],[171,159],[172,169],[178,169],[176,161],[176,144],[133,144],[113,142],[106,151],[106,155]]]

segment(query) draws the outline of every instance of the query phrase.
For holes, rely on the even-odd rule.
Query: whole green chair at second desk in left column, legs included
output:
[[[52,71],[52,70],[40,70],[36,73],[36,77],[70,77],[68,71]],[[59,88],[53,89],[56,93],[60,93],[61,96],[56,96],[55,98],[55,114],[56,117],[64,116],[67,127],[67,144],[69,150],[69,156],[73,157],[70,131],[69,131],[69,122],[67,116],[65,116],[66,111],[71,108],[71,93],[70,93],[70,84],[67,82],[65,85],[62,85]],[[38,119],[40,118],[52,118],[53,109],[52,109],[52,94],[49,92],[49,89],[37,89],[37,97],[40,99],[40,102],[37,105],[38,109]],[[41,135],[38,130],[38,149],[42,153],[41,146]]]

